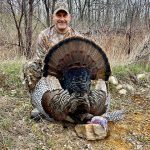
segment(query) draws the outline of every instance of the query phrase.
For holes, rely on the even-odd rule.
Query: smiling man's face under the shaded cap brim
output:
[[[65,12],[64,10],[58,11],[56,14],[53,15],[53,21],[57,30],[63,32],[66,31],[69,23],[70,23],[70,14]]]

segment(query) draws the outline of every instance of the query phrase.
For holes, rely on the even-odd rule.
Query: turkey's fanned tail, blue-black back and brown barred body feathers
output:
[[[83,114],[100,115],[106,111],[105,93],[90,88],[91,80],[107,81],[111,69],[106,54],[93,41],[82,37],[65,39],[50,49],[44,63],[43,76],[55,76],[63,88],[43,96],[46,113],[63,120],[67,115],[81,119]]]

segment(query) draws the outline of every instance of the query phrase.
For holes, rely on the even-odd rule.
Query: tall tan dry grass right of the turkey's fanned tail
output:
[[[126,34],[103,34],[94,39],[106,52],[111,66],[114,67],[133,63],[144,45],[150,40],[150,35],[144,31],[138,34],[133,33],[130,46]],[[130,54],[128,54],[129,47]]]

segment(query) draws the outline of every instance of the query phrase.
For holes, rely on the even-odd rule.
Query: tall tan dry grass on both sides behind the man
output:
[[[0,60],[10,60],[17,59],[19,56],[18,46],[13,45],[17,43],[17,31],[15,25],[12,23],[13,19],[8,16],[1,16],[2,31],[0,33]],[[32,38],[32,51],[35,50],[35,44],[37,35],[43,26],[34,21],[33,38]],[[4,26],[5,25],[5,26]],[[78,28],[79,29],[79,28]],[[95,41],[102,47],[102,49],[107,53],[110,63],[113,66],[118,64],[129,64],[135,60],[137,54],[143,49],[144,44],[150,40],[149,31],[138,27],[132,29],[130,46],[129,46],[129,31],[110,31],[101,32],[99,35],[90,35],[90,38],[95,39]],[[130,47],[131,53],[128,55],[128,49]]]

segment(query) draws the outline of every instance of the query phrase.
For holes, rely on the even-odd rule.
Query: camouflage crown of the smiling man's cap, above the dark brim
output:
[[[68,4],[67,4],[67,2],[65,0],[58,0],[56,2],[54,14],[56,14],[60,10],[64,10],[65,12],[67,12],[69,14]]]

